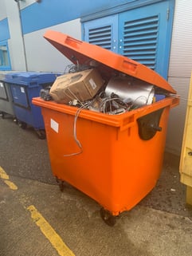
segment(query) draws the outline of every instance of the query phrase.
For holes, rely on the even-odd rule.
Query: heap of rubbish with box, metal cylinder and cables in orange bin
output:
[[[68,73],[57,77],[50,90],[45,93],[41,90],[41,98],[44,100],[55,100],[57,103],[69,104],[71,106],[82,107],[104,112],[108,114],[120,114],[139,108],[146,104],[152,104],[154,100],[154,86],[143,81],[130,79],[127,76],[112,77],[107,85],[104,80],[98,77],[91,77],[86,80],[82,73],[91,73],[87,69],[83,72]],[[96,73],[96,69],[94,71]],[[94,79],[96,81],[94,81]],[[90,84],[92,81],[92,85]],[[94,85],[95,92],[92,86]],[[98,86],[99,85],[99,86]],[[103,90],[102,90],[103,88]]]

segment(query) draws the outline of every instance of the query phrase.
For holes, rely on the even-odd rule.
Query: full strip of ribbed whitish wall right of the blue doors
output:
[[[192,1],[176,0],[174,27],[170,50],[170,85],[181,96],[180,105],[170,111],[167,132],[167,150],[177,155],[182,148],[182,134],[185,124],[186,103],[192,70]]]

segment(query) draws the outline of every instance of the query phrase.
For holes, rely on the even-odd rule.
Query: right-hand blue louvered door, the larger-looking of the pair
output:
[[[173,7],[170,1],[119,15],[119,53],[167,78]]]

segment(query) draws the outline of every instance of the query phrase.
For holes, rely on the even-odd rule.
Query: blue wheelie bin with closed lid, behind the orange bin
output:
[[[53,85],[59,74],[40,72],[7,73],[6,84],[10,86],[14,113],[22,128],[32,126],[39,139],[45,139],[45,125],[41,108],[32,104],[32,98],[39,96],[41,89]]]

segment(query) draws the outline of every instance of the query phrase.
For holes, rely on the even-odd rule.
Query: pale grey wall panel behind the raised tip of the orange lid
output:
[[[25,53],[29,71],[64,72],[69,60],[64,57],[43,37],[46,30],[67,33],[77,39],[81,38],[80,19],[65,22],[44,30],[25,34]]]

